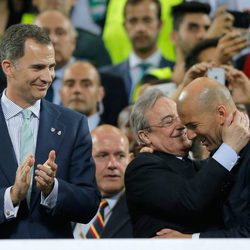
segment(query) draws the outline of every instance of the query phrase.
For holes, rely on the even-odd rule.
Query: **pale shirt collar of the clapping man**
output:
[[[2,102],[2,108],[3,108],[3,113],[4,117],[6,120],[9,120],[10,118],[18,115],[23,108],[15,104],[13,101],[11,101],[5,94],[6,89],[3,91],[3,95],[1,98]],[[34,105],[28,107],[27,109],[30,110],[38,119],[40,117],[40,105],[41,105],[41,100],[38,100],[35,102]]]

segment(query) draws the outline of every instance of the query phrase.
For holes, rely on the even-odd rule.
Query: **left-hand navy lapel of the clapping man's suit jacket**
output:
[[[0,140],[2,141],[0,153],[0,171],[6,176],[11,185],[15,182],[17,160],[15,151],[9,136],[7,124],[5,122],[1,101],[0,101]]]

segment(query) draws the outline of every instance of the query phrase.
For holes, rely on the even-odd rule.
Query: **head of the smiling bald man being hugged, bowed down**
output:
[[[184,88],[177,110],[187,128],[188,138],[198,138],[211,152],[221,145],[223,125],[236,106],[225,86],[201,77]]]

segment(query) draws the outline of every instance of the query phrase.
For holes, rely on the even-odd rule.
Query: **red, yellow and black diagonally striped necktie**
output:
[[[102,199],[99,205],[99,211],[97,213],[96,219],[90,226],[89,231],[86,234],[87,239],[100,239],[104,228],[104,209],[108,206],[108,202]]]

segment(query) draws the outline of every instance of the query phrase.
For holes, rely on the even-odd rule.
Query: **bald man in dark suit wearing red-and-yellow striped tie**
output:
[[[96,181],[104,208],[104,228],[92,230],[95,218],[87,225],[77,224],[75,238],[132,238],[132,226],[124,194],[124,172],[130,161],[127,137],[116,127],[101,125],[92,133],[93,157],[96,163]],[[100,208],[101,209],[101,208]],[[98,234],[90,232],[97,231]]]

